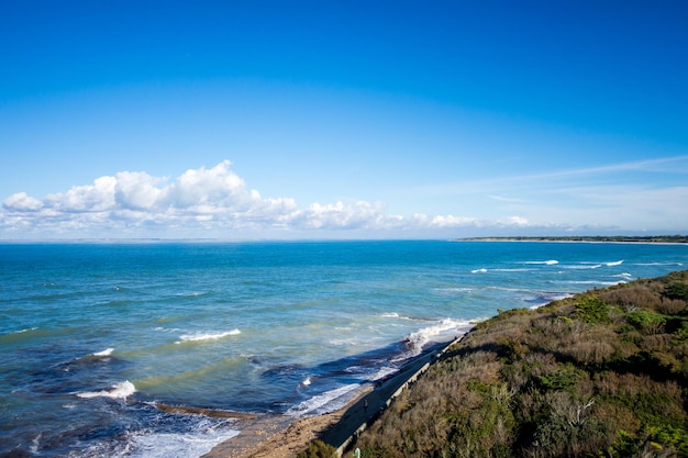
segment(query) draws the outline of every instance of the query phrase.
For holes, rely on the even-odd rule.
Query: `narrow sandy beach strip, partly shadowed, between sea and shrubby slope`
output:
[[[360,392],[339,411],[293,420],[284,415],[240,418],[241,434],[203,458],[285,458],[303,451],[313,439],[344,449],[348,440],[373,422],[391,400],[424,372],[455,340],[433,346],[407,362],[398,372]]]

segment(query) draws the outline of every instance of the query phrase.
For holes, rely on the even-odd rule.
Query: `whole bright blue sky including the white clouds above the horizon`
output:
[[[688,231],[688,3],[370,3],[3,2],[0,238]]]

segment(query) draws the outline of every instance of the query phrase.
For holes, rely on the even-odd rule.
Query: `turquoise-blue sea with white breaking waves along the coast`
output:
[[[498,309],[688,265],[688,246],[477,242],[0,244],[0,454],[200,456]]]

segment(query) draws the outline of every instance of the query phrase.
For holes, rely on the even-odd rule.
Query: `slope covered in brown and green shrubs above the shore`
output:
[[[688,457],[687,297],[683,271],[502,312],[355,446],[362,457]]]

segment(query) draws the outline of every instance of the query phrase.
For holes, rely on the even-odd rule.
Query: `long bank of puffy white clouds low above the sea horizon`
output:
[[[5,238],[289,238],[376,232],[380,236],[402,236],[528,225],[521,216],[488,224],[455,215],[395,215],[388,214],[384,204],[366,201],[300,206],[293,199],[263,198],[248,189],[229,160],[212,168],[189,169],[174,180],[143,171],[121,171],[43,200],[19,192],[2,202],[0,212],[0,230]]]

